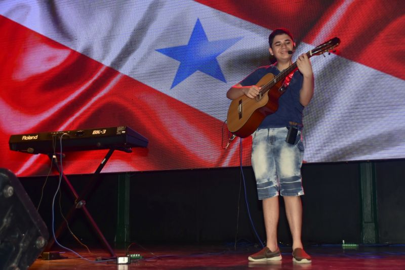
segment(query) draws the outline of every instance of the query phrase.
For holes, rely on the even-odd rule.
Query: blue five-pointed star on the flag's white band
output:
[[[187,45],[156,50],[180,62],[171,89],[199,70],[218,80],[226,82],[217,56],[242,37],[209,41],[199,19],[195,23]]]

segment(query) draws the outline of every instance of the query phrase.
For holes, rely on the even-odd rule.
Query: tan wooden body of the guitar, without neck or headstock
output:
[[[266,85],[274,78],[272,73],[264,75],[256,84]],[[263,119],[278,109],[278,99],[285,91],[280,91],[282,81],[277,82],[262,97],[256,99],[243,95],[231,102],[228,109],[227,124],[230,132],[240,138],[250,136]]]

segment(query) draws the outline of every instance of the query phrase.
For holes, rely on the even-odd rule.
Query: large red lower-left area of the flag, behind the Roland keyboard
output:
[[[32,157],[8,150],[9,136],[16,128],[22,130],[18,133],[55,131],[64,123],[69,123],[65,130],[127,125],[149,139],[147,149],[135,149],[131,154],[116,151],[104,172],[221,167],[228,157],[228,165],[239,165],[238,151],[231,154],[221,149],[219,120],[7,18],[0,17],[0,31],[4,40],[12,40],[0,43],[4,65],[0,87],[6,103],[0,107],[0,114],[10,122],[0,130],[0,167],[17,172]],[[31,62],[24,66],[26,59]],[[93,82],[88,84],[90,80]],[[42,116],[81,88],[83,91],[71,101]],[[6,112],[8,115],[4,115]],[[244,142],[244,165],[249,165],[251,141]],[[92,173],[105,152],[67,153],[65,172]],[[48,158],[41,157],[19,176],[46,174],[48,164]]]

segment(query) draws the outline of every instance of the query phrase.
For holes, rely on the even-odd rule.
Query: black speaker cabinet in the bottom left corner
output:
[[[0,269],[26,269],[41,254],[48,229],[10,170],[0,168]]]

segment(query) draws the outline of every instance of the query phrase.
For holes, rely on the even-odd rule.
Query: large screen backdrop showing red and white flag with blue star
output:
[[[0,167],[49,170],[44,155],[9,150],[11,134],[130,126],[147,149],[116,151],[103,172],[239,165],[222,149],[227,89],[268,64],[267,38],[289,28],[311,58],[305,160],[405,157],[403,1],[2,1]],[[242,140],[250,165],[251,139]],[[67,153],[66,173],[91,173],[106,150]]]

